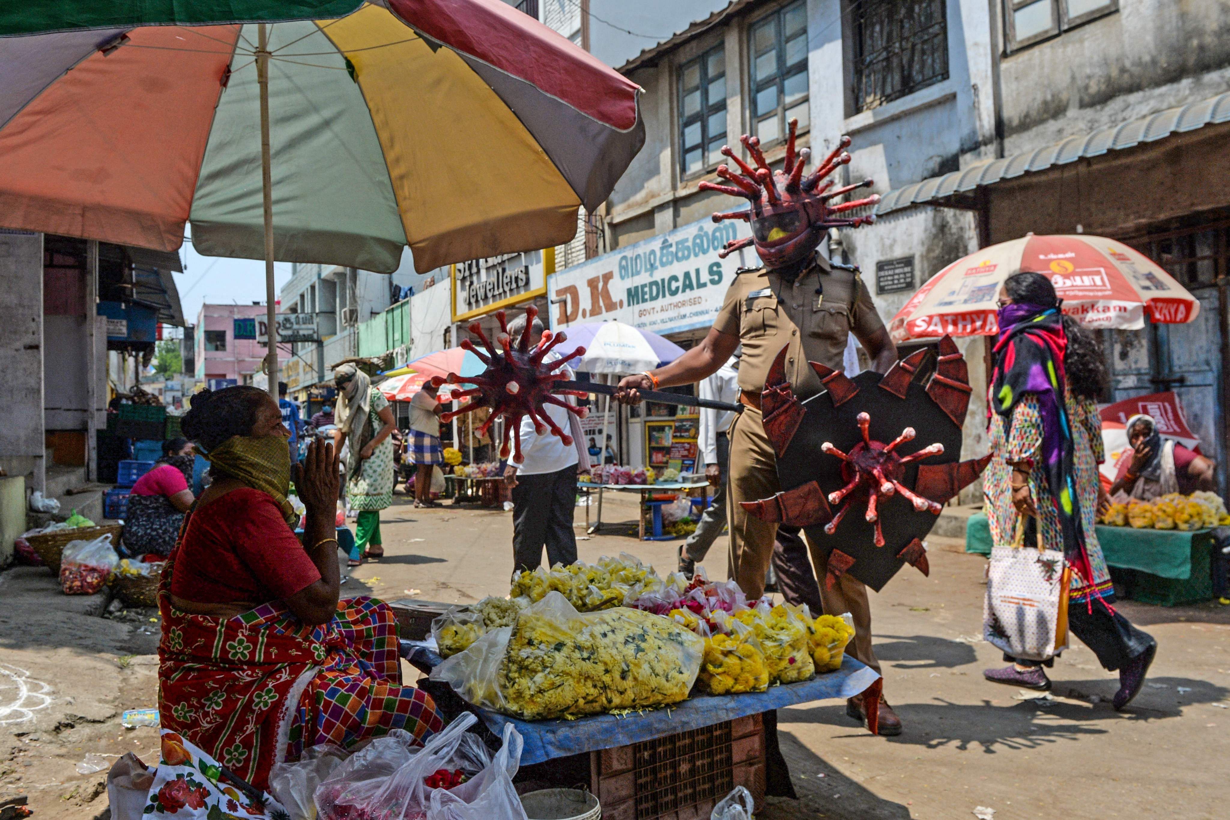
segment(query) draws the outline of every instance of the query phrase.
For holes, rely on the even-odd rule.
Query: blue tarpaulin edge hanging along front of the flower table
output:
[[[506,724],[510,723],[517,728],[525,741],[522,765],[529,766],[584,751],[664,738],[796,703],[854,697],[878,677],[873,670],[846,655],[838,671],[817,675],[801,684],[770,686],[766,692],[747,695],[701,695],[669,708],[629,716],[595,714],[576,720],[519,720],[486,709],[477,709],[477,713],[496,736],[503,736]]]

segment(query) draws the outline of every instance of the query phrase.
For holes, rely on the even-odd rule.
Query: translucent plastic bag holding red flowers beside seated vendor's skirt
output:
[[[316,788],[321,820],[524,819],[512,783],[522,736],[506,727],[503,746],[492,756],[467,731],[476,720],[461,714],[422,749],[399,729],[373,740]],[[492,813],[482,814],[487,809]]]

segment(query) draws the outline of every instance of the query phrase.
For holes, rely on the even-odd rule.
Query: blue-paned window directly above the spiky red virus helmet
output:
[[[795,2],[752,26],[752,122],[761,145],[780,140],[798,118],[807,130],[807,5]]]

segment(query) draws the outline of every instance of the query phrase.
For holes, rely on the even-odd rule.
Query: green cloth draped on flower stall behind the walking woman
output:
[[[1212,530],[1137,530],[1098,526],[1097,540],[1116,585],[1145,604],[1177,606],[1213,596]],[[966,524],[966,552],[991,554],[991,530],[984,513]]]

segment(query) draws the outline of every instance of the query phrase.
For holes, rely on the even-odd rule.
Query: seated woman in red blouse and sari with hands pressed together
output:
[[[162,573],[159,708],[172,729],[247,782],[322,743],[442,728],[430,697],[402,686],[387,605],[338,600],[337,457],[314,440],[295,476],[303,543],[287,502],[282,413],[255,387],[203,391],[183,433],[213,483]]]

